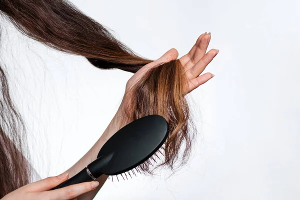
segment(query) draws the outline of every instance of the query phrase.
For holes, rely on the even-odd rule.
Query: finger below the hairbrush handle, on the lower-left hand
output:
[[[69,200],[76,199],[77,196],[95,189],[99,185],[98,181],[82,182],[72,184],[59,189],[40,192],[42,197],[49,200]]]

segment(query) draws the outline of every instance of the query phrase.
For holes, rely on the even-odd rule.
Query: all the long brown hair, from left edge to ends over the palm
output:
[[[24,35],[59,51],[84,56],[101,69],[118,68],[135,73],[152,61],[137,55],[118,41],[107,28],[67,0],[0,0],[0,11]],[[174,169],[175,162],[180,166],[188,158],[194,131],[190,128],[189,109],[184,98],[186,85],[180,61],[172,60],[151,68],[125,93],[130,100],[125,103],[120,127],[148,114],[159,114],[169,123],[170,135],[163,147],[164,157],[159,166]],[[28,179],[21,179],[20,184],[7,182],[10,180],[8,176],[13,175],[5,174],[9,163],[23,166],[22,169],[29,171],[25,162],[15,157],[9,160],[9,154],[15,151],[19,142],[12,140],[14,146],[8,146],[7,154],[4,150],[6,144],[3,143],[5,133],[0,131],[0,164],[4,165],[0,167],[0,197],[28,182]],[[17,134],[15,131],[14,135]],[[15,178],[28,177],[26,170],[21,170],[21,167],[16,169],[23,176]],[[143,163],[141,169],[150,172],[149,163]]]

